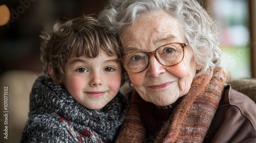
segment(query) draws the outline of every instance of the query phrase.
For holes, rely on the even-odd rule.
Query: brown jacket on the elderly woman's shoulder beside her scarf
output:
[[[256,104],[226,85],[204,142],[256,142]]]

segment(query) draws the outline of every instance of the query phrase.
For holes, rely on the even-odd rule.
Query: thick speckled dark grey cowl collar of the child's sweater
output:
[[[124,121],[127,105],[125,96],[118,92],[117,96],[102,109],[102,112],[90,110],[76,102],[62,86],[53,84],[49,77],[40,76],[30,93],[29,117],[33,120],[38,114],[56,113],[67,120],[77,132],[80,132],[82,137],[86,136],[84,131],[89,131],[97,134],[98,139],[111,141]],[[29,127],[25,130],[29,130]]]

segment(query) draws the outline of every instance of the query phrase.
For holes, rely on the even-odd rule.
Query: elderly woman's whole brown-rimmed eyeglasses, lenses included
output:
[[[132,52],[118,58],[123,67],[131,73],[140,73],[147,68],[150,56],[156,57],[157,61],[164,66],[179,64],[184,58],[186,43],[169,43],[158,47],[152,52]]]

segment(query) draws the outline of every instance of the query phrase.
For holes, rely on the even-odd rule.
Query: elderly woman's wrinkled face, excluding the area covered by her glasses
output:
[[[185,43],[181,24],[165,11],[144,14],[120,33],[124,54],[151,52],[173,43]],[[190,46],[184,47],[184,58],[175,66],[163,66],[154,56],[141,73],[130,73],[131,82],[141,98],[158,106],[167,106],[184,96],[196,75],[197,66]]]

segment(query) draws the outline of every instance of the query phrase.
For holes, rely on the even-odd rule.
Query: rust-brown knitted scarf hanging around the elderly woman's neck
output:
[[[202,142],[217,110],[224,89],[222,68],[196,77],[189,92],[163,125],[155,142]],[[116,142],[144,142],[146,129],[141,121],[137,92]]]

